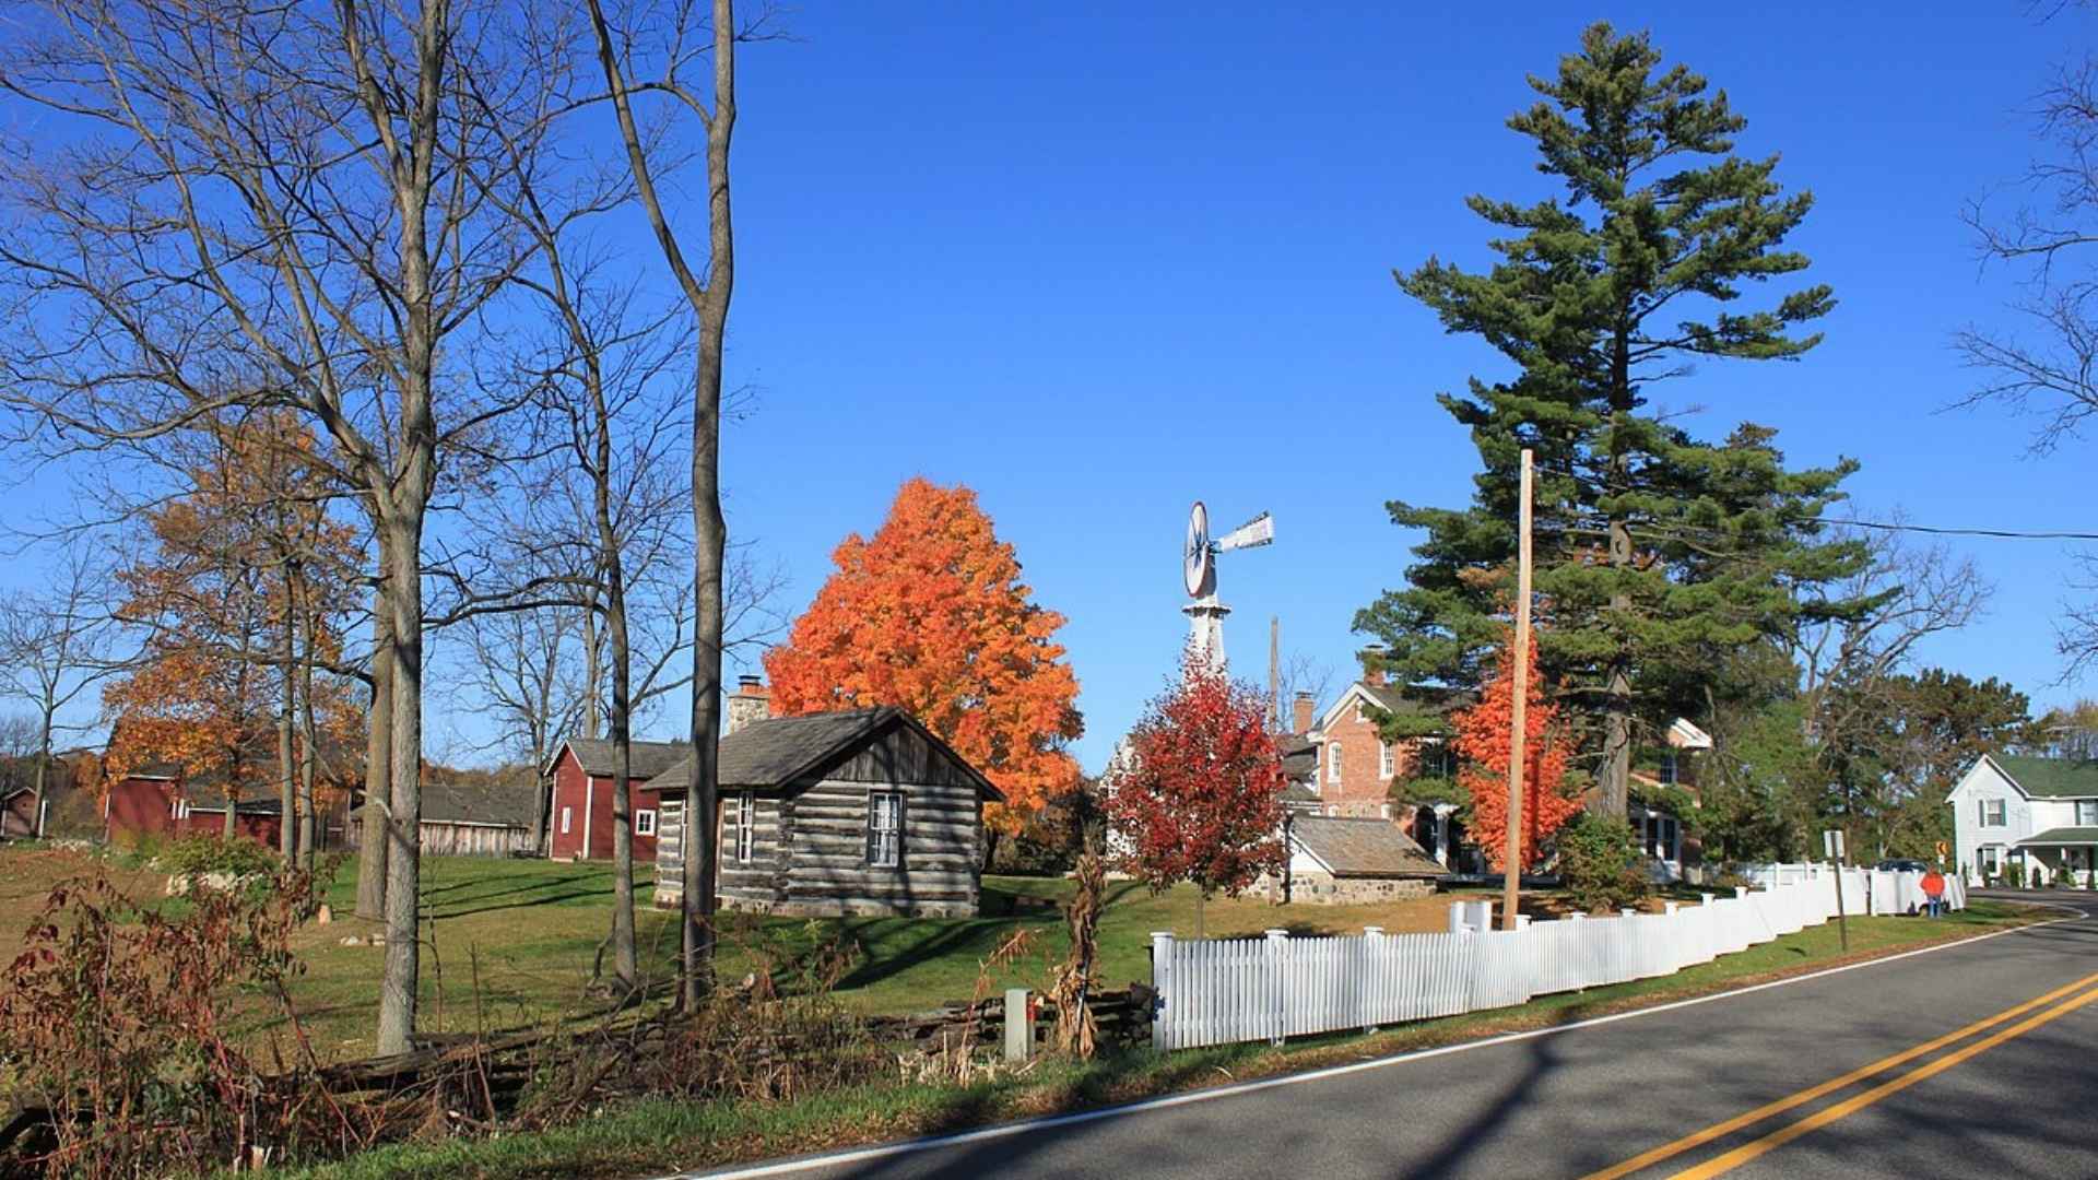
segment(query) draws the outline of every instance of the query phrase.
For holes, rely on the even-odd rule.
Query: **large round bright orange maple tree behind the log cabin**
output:
[[[776,714],[911,712],[1005,792],[986,808],[1005,834],[1078,783],[1066,752],[1085,733],[1078,678],[1053,640],[1064,615],[1030,600],[973,491],[915,477],[873,538],[852,533],[831,559],[837,571],[766,653]]]

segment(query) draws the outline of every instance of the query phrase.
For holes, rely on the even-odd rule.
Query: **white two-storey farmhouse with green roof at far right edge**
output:
[[[1945,802],[1953,806],[1955,855],[1968,882],[2008,863],[2025,873],[2039,865],[2048,884],[2060,869],[2092,884],[2098,760],[1985,754]]]

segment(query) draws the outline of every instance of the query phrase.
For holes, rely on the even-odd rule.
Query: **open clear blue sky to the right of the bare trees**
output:
[[[785,607],[906,477],[976,487],[1070,617],[1097,768],[1185,636],[1179,540],[1202,498],[1219,525],[1278,521],[1273,548],[1223,561],[1238,670],[1263,674],[1280,615],[1286,651],[1347,674],[1355,609],[1416,540],[1385,502],[1471,491],[1475,451],[1433,395],[1506,372],[1391,271],[1487,258],[1467,193],[1553,191],[1502,124],[1597,17],[1722,86],[1741,151],[1783,153],[1779,178],[1817,195],[1794,239],[1808,281],[1840,300],[1804,361],[1708,365],[1660,399],[1704,407],[1706,437],[1756,420],[1800,464],[1855,456],[1871,519],[2092,529],[2090,443],[2031,460],[2033,422],[1941,412],[1972,382],[1951,332],[2001,323],[2008,294],[1957,212],[2025,168],[2022,109],[2092,44],[2085,15],[1404,8],[808,2],[793,40],[747,46],[728,380],[753,412],[724,464],[730,525],[783,563]],[[652,246],[629,246],[661,288]],[[1993,611],[1926,659],[2075,695],[2050,687],[2069,548],[1964,552]],[[478,718],[430,708],[436,754],[470,745]]]

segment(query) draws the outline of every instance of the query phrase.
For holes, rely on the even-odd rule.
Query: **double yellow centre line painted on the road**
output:
[[[1899,1075],[1899,1077],[1882,1081],[1880,1086],[1874,1086],[1871,1090],[1865,1090],[1863,1094],[1857,1094],[1853,1098],[1844,1098],[1842,1102],[1823,1107],[1823,1109],[1815,1111],[1813,1115],[1806,1115],[1804,1119],[1787,1123],[1787,1125],[1783,1125],[1783,1128],[1779,1128],[1779,1130],[1775,1130],[1775,1132],[1771,1132],[1771,1134],[1767,1134],[1767,1136],[1762,1136],[1758,1140],[1750,1140],[1750,1142],[1746,1142],[1746,1144],[1741,1144],[1741,1146],[1737,1146],[1737,1149],[1733,1149],[1733,1151],[1729,1151],[1725,1155],[1716,1155],[1716,1157],[1712,1157],[1712,1159],[1708,1159],[1708,1161],[1704,1161],[1704,1163],[1699,1163],[1695,1167],[1687,1167],[1683,1172],[1676,1172],[1676,1174],[1670,1176],[1670,1180],[1710,1180],[1712,1176],[1722,1176],[1722,1174],[1733,1172],[1735,1167],[1748,1163],[1750,1159],[1767,1155],[1767,1153],[1771,1153],[1771,1151],[1775,1151],[1775,1149],[1779,1149],[1779,1146],[1783,1146],[1783,1144],[1787,1144],[1787,1142],[1804,1136],[1806,1132],[1811,1132],[1815,1128],[1825,1128],[1825,1125],[1834,1123],[1836,1119],[1855,1115],[1857,1111],[1863,1111],[1865,1107],[1871,1107],[1874,1102],[1878,1102],[1878,1100],[1882,1100],[1882,1098],[1886,1098],[1890,1094],[1907,1090],[1909,1086],[1915,1086],[1918,1081],[1924,1081],[1926,1077],[1936,1077],[1939,1073],[1945,1073],[1947,1069],[1951,1069],[1951,1067],[1955,1067],[1955,1065],[1960,1065],[1960,1062],[1964,1062],[1964,1060],[1968,1060],[1968,1058],[1972,1058],[1976,1054],[1989,1052],[1991,1048],[1995,1048],[1995,1046],[1999,1046],[1999,1044],[2004,1044],[2004,1041],[2008,1041],[2012,1037],[2022,1037],[2025,1033],[2031,1033],[2033,1029],[2037,1029],[2037,1027],[2041,1027],[2041,1025],[2046,1025],[2050,1020],[2060,1020],[2062,1016],[2075,1012],[2077,1008],[2083,1008],[2085,1004],[2098,1004],[2098,989],[2085,991],[2083,995],[2075,995],[2073,999],[2062,999],[2062,997],[2067,997],[2067,995],[2071,995],[2071,993],[2075,993],[2079,989],[2085,989],[2085,987],[2090,987],[2094,983],[2098,983],[2098,974],[2088,974],[2088,976],[2083,976],[2083,978],[2079,978],[2079,981],[2075,981],[2075,983],[2071,983],[2067,987],[2056,987],[2054,991],[2050,991],[2046,995],[2039,995],[2039,997],[2027,999],[2025,1004],[2016,1004],[2012,1008],[2006,1008],[2006,1010],[1997,1012],[1995,1016],[1987,1016],[1983,1020],[1974,1020],[1972,1025],[1968,1025],[1964,1029],[1955,1029],[1951,1033],[1945,1033],[1943,1037],[1934,1037],[1934,1039],[1928,1039],[1928,1041],[1924,1041],[1924,1044],[1920,1044],[1915,1048],[1907,1048],[1907,1050],[1901,1050],[1899,1054],[1884,1056],[1884,1058],[1880,1058],[1880,1060],[1876,1060],[1871,1065],[1861,1065],[1861,1067],[1853,1069],[1850,1073],[1844,1073],[1842,1077],[1832,1077],[1832,1079],[1827,1079],[1827,1081],[1823,1081],[1819,1086],[1808,1086],[1806,1090],[1800,1090],[1796,1094],[1787,1094],[1787,1096],[1783,1096],[1783,1098],[1779,1098],[1775,1102],[1767,1102],[1762,1107],[1756,1107],[1754,1111],[1746,1111],[1746,1113],[1735,1115],[1731,1119],[1725,1119],[1720,1123],[1712,1123],[1710,1128],[1704,1128],[1701,1132],[1687,1134],[1687,1136],[1683,1136],[1683,1138],[1678,1138],[1674,1142],[1664,1142],[1662,1146],[1655,1146],[1653,1151],[1639,1153],[1632,1159],[1626,1159],[1624,1163],[1615,1163],[1615,1165],[1605,1167],[1601,1172],[1590,1172],[1582,1180],[1618,1180],[1618,1178],[1630,1176],[1634,1172],[1645,1172],[1647,1167],[1653,1167],[1655,1163],[1674,1159],[1674,1157],[1678,1157],[1678,1155],[1683,1155],[1687,1151],[1695,1151],[1695,1149],[1699,1149],[1699,1146],[1704,1146],[1704,1144],[1708,1144],[1712,1140],[1731,1136],[1733,1132],[1748,1130],[1748,1128],[1752,1128],[1752,1125],[1756,1125],[1756,1123],[1760,1123],[1760,1121],[1764,1121],[1764,1119],[1769,1119],[1773,1115],[1783,1115],[1785,1111],[1794,1111],[1794,1109],[1804,1107],[1804,1104],[1808,1104],[1808,1102],[1813,1102],[1817,1098],[1825,1098],[1829,1094],[1836,1094],[1838,1090],[1846,1090],[1850,1086],[1857,1086],[1859,1081],[1865,1081],[1867,1077],[1886,1073],[1888,1069],[1907,1065],[1907,1062],[1911,1062],[1915,1058],[1930,1056],[1930,1054],[1934,1054],[1934,1052],[1939,1052],[1939,1050],[1943,1050],[1943,1048],[1947,1048],[1951,1044],[1957,1044],[1957,1041],[1964,1041],[1966,1037],[1972,1037],[1974,1033],[1993,1029],[1993,1027],[2010,1023],[2010,1020],[2018,1020],[2018,1016],[2025,1016],[2027,1012],[2033,1012],[2035,1008],[2046,1008],[2043,1012],[2037,1012],[2033,1016],[2025,1016],[2025,1020],[2018,1020],[2016,1025],[2010,1025],[2008,1029],[2004,1029],[1999,1033],[1983,1037],[1983,1039],[1978,1039],[1978,1041],[1974,1041],[1974,1044],[1970,1044],[1970,1046],[1966,1046],[1962,1050],[1949,1052],[1949,1054],[1945,1054],[1945,1056],[1941,1056],[1941,1058],[1936,1058],[1936,1060],[1932,1060],[1928,1065],[1915,1067],[1915,1069],[1911,1069],[1911,1071]],[[2056,1004],[2058,999],[2060,999],[2060,1004]],[[2056,1004],[2056,1006],[2048,1008],[2048,1004]]]

